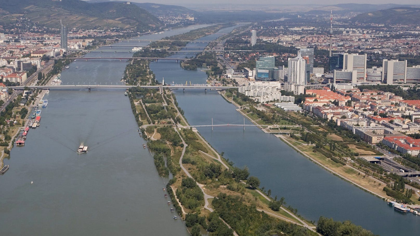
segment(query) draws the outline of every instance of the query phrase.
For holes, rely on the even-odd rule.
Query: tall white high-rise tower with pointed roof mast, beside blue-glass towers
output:
[[[286,91],[296,95],[303,94],[306,84],[306,61],[302,58],[300,51],[296,58],[289,58],[287,69]]]

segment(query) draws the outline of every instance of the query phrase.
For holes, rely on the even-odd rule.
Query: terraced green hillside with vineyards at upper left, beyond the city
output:
[[[69,28],[109,29],[113,27],[147,31],[162,23],[134,4],[87,3],[80,0],[0,0],[0,24],[11,16],[27,17],[36,24],[59,28],[60,19]],[[10,24],[10,21],[7,23]]]

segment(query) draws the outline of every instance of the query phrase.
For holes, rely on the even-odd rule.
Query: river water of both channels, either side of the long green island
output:
[[[198,27],[139,39],[159,39]],[[180,54],[171,57],[191,56]],[[90,52],[87,57],[131,55]],[[61,78],[63,84],[119,84],[126,64],[119,60],[77,60]],[[151,63],[151,69],[159,81],[165,77],[166,83],[203,84],[206,80],[204,72],[183,70],[172,60]],[[215,91],[179,89],[175,93],[191,125],[211,124],[211,118],[215,124],[243,122],[234,105]],[[168,180],[157,174],[150,153],[142,148],[145,141],[136,132],[123,91],[51,90],[45,99],[49,102],[42,111],[41,126],[29,131],[25,147],[13,148],[10,160],[5,160],[10,170],[0,176],[2,234],[189,235],[181,221],[172,219],[162,191]],[[251,175],[260,178],[260,186],[271,189],[273,196],[285,197],[305,218],[317,220],[323,215],[351,220],[383,236],[420,230],[420,218],[395,212],[381,199],[333,176],[258,128],[199,128],[199,132],[235,165],[247,165]],[[81,143],[89,146],[89,152],[77,155]]]

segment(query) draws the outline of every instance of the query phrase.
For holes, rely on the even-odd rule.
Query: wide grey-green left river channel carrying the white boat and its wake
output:
[[[160,39],[199,27],[140,38]],[[132,53],[91,52],[87,57],[101,55]],[[118,83],[126,64],[77,60],[61,79],[63,84]],[[5,159],[10,169],[0,176],[2,235],[189,235],[181,220],[173,219],[171,199],[162,190],[168,180],[157,174],[150,152],[143,149],[123,90],[51,90],[45,99],[41,125]],[[86,154],[76,153],[81,143],[89,146]]]

